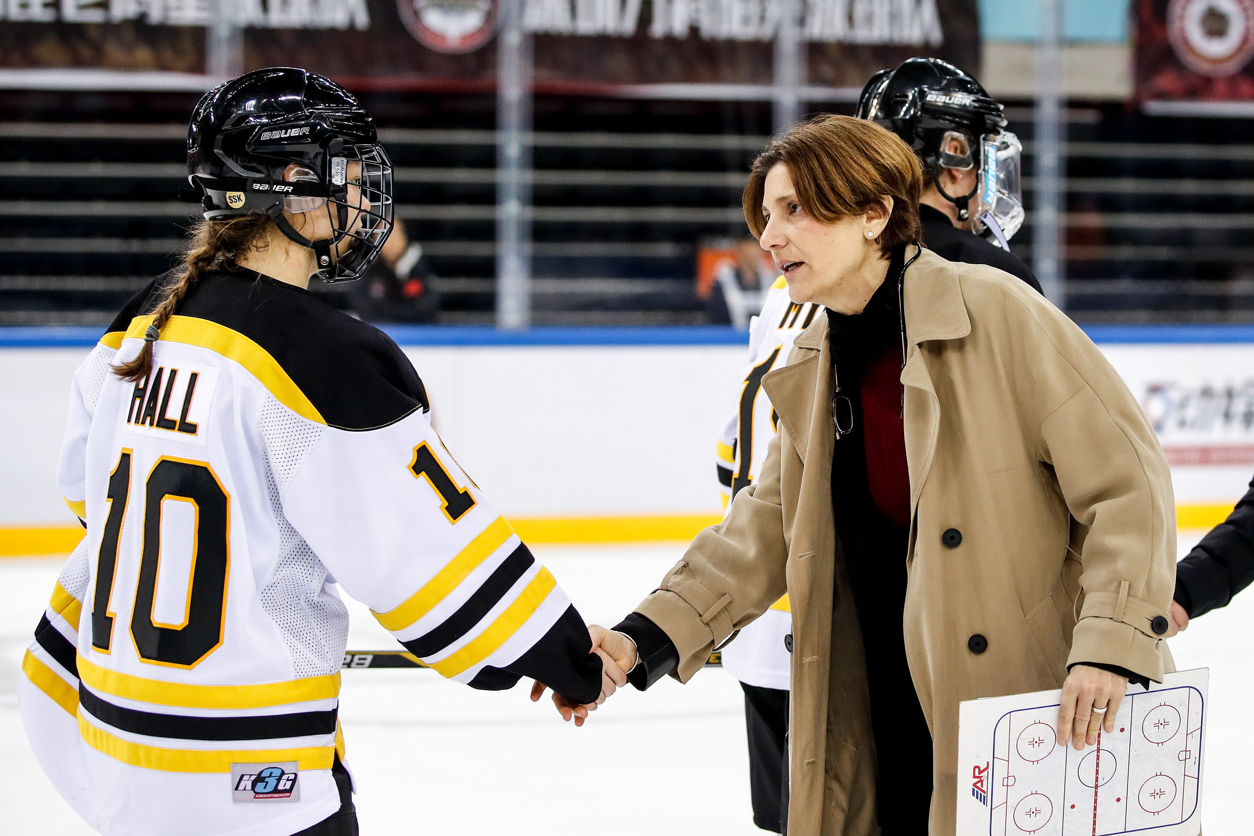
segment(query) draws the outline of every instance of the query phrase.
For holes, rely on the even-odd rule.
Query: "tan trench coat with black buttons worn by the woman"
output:
[[[1175,584],[1166,461],[1136,400],[1065,315],[998,269],[923,251],[905,276],[913,525],[905,652],[934,746],[932,836],[954,832],[958,702],[1058,688],[1099,662],[1161,681]],[[762,475],[637,612],[687,681],[785,590],[793,605],[791,836],[869,836],[875,752],[861,637],[831,514],[828,321],[764,386]],[[840,496],[835,498],[840,501]],[[958,529],[947,548],[942,533]],[[951,539],[952,541],[952,539]],[[1161,622],[1160,622],[1161,625]],[[972,635],[987,651],[968,649]],[[978,647],[978,643],[977,643]],[[892,753],[884,766],[892,768]]]

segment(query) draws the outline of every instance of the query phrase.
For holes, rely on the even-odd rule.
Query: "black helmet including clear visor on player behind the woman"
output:
[[[972,219],[976,233],[1007,248],[1006,241],[1023,223],[1022,145],[1006,130],[1002,105],[979,81],[939,59],[912,58],[867,81],[858,117],[905,140],[940,196],[958,207],[958,219]],[[976,187],[967,194],[947,194],[942,168],[977,168]]]

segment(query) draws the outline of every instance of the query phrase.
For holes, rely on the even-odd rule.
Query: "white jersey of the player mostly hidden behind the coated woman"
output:
[[[749,327],[749,366],[740,397],[719,434],[716,464],[724,509],[730,508],[730,500],[741,488],[757,478],[766,459],[766,446],[775,436],[779,417],[762,391],[762,377],[788,362],[793,340],[814,321],[820,308],[816,302],[798,305],[790,300],[780,276],[766,292],[762,312]],[[724,669],[744,683],[786,691],[790,657],[784,637],[791,632],[793,614],[788,595],[784,595],[722,648]]]

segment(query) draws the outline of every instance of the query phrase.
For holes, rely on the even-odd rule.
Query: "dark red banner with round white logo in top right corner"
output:
[[[1141,102],[1254,100],[1254,0],[1136,0]]]

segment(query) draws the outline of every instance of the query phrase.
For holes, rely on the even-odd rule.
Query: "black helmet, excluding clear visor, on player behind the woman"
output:
[[[932,174],[937,168],[969,169],[981,164],[986,135],[1006,128],[1002,105],[974,78],[937,58],[910,58],[897,69],[870,76],[858,98],[858,118],[870,119],[905,140]],[[957,139],[958,153],[952,140]],[[978,189],[978,187],[977,187]],[[967,219],[976,192],[946,199]]]

